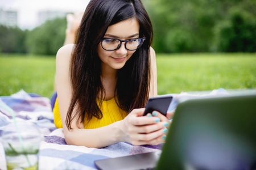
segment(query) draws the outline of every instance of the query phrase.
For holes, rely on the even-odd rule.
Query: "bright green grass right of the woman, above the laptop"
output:
[[[256,87],[255,54],[162,54],[156,62],[159,95]]]

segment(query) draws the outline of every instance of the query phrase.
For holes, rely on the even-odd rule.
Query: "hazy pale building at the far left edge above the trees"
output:
[[[0,24],[15,27],[18,25],[18,12],[0,8]]]

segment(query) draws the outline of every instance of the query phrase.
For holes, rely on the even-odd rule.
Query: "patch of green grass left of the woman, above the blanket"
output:
[[[23,89],[51,97],[55,77],[55,57],[0,55],[0,96]]]

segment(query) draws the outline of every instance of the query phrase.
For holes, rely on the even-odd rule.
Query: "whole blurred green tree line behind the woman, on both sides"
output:
[[[256,1],[142,0],[158,53],[256,52]],[[32,31],[0,25],[0,52],[55,56],[67,21],[48,20]]]

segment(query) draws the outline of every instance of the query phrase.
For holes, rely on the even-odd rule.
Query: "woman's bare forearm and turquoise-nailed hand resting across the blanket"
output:
[[[96,129],[73,127],[64,135],[68,145],[102,148],[118,142],[132,145],[158,145],[164,141],[168,122],[158,117],[142,116],[144,108],[134,109],[124,120]],[[64,126],[63,126],[64,128]]]

